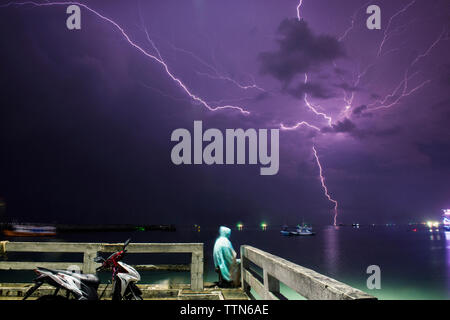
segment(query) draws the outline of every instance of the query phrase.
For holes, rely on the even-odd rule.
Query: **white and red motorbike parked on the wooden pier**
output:
[[[112,300],[142,300],[142,292],[136,286],[136,282],[141,280],[139,273],[130,265],[122,262],[126,247],[130,243],[130,239],[125,241],[122,250],[111,254],[107,259],[100,256],[94,258],[94,261],[101,263],[96,269],[97,272],[102,270],[112,270],[113,292]],[[55,288],[51,295],[39,297],[41,301],[63,301],[69,299],[75,300],[100,300],[106,291],[103,290],[101,296],[98,296],[97,290],[100,284],[99,278],[94,274],[80,274],[67,270],[53,270],[38,267],[35,270],[37,278],[34,279],[34,286],[26,293],[23,300],[30,297],[44,283]],[[58,295],[59,291],[66,290],[66,295]]]

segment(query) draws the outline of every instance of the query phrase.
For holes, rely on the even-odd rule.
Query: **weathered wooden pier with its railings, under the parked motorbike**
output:
[[[31,262],[0,261],[0,270],[33,270],[37,266],[51,269],[77,269],[83,273],[95,273],[99,264],[94,262],[98,253],[121,250],[121,243],[69,243],[69,242],[0,242],[0,255],[8,252],[58,252],[82,253],[82,261]],[[218,288],[213,283],[204,283],[203,243],[131,243],[128,253],[189,253],[190,263],[184,265],[140,264],[137,270],[189,271],[190,284],[138,284],[144,299],[158,300],[247,300],[286,299],[280,292],[280,283],[297,292],[301,298],[316,300],[360,300],[375,297],[342,282],[301,267],[290,261],[251,246],[241,246],[241,287]],[[24,296],[31,283],[0,284],[0,300],[17,300]],[[104,298],[111,297],[111,285]],[[102,292],[105,284],[101,284]],[[30,299],[54,291],[43,285]]]

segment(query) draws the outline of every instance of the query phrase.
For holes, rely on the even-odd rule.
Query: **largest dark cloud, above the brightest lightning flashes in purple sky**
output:
[[[261,72],[289,86],[295,76],[344,56],[339,41],[328,35],[315,35],[305,21],[285,19],[278,27],[279,48],[259,56]]]

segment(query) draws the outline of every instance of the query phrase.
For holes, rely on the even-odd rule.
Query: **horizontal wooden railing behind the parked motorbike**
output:
[[[94,262],[99,252],[122,250],[121,243],[76,243],[76,242],[0,242],[0,253],[8,252],[69,252],[83,253],[83,261],[76,262],[23,262],[0,261],[0,270],[32,270],[37,266],[50,269],[79,268],[83,273],[95,273],[100,264]],[[191,289],[203,290],[203,243],[130,243],[127,253],[190,253],[191,263],[183,265],[138,265],[138,270],[190,270]]]

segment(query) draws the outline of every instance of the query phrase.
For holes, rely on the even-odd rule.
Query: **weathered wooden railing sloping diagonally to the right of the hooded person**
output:
[[[262,269],[262,277],[251,268],[251,263]],[[260,281],[258,278],[262,278]],[[376,299],[342,282],[311,269],[274,256],[251,246],[241,246],[241,284],[250,296],[252,288],[265,300],[285,298],[280,294],[280,282],[306,299],[358,300]]]

